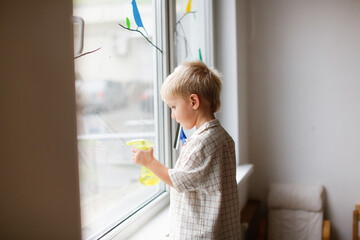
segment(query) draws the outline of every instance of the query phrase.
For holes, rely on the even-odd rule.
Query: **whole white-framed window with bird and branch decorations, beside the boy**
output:
[[[153,141],[155,157],[171,167],[177,153],[170,131],[176,128],[159,96],[161,83],[170,63],[213,62],[211,1],[136,0],[143,26],[134,2],[73,4],[84,239],[111,235],[167,195],[164,183],[139,182],[141,167],[132,163],[126,142]]]

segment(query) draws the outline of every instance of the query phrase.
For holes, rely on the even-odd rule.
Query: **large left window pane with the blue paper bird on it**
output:
[[[138,0],[137,9],[150,41],[156,42],[156,3]],[[75,72],[83,237],[98,238],[164,191],[164,184],[144,186],[141,167],[132,163],[126,142],[153,141],[159,159],[154,107],[157,51],[136,31],[130,0],[74,0]],[[80,21],[81,22],[81,21]],[[159,58],[160,59],[160,58]]]

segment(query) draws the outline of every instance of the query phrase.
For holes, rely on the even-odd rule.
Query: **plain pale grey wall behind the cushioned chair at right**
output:
[[[321,183],[332,239],[360,203],[360,1],[251,1],[250,197]]]

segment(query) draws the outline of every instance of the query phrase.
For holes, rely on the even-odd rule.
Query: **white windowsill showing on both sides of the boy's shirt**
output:
[[[236,168],[236,180],[238,185],[243,183],[254,170],[254,165],[244,164]],[[169,233],[169,205],[160,210],[147,224],[139,227],[129,240],[165,240]]]

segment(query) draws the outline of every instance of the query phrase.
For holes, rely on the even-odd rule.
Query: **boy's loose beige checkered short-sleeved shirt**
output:
[[[169,175],[171,239],[240,239],[234,141],[217,119],[188,139]]]

